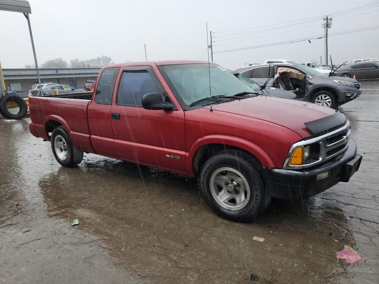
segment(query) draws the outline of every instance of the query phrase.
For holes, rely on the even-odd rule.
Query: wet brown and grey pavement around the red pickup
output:
[[[217,217],[196,179],[94,154],[63,168],[29,118],[0,120],[0,282],[378,283],[379,262],[335,257],[350,245],[379,261],[379,82],[362,85],[342,106],[359,172],[307,201],[273,200],[255,223]]]

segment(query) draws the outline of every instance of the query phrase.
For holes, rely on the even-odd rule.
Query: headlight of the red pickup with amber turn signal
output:
[[[321,159],[321,142],[296,147],[292,150],[288,165],[301,166],[312,164]]]

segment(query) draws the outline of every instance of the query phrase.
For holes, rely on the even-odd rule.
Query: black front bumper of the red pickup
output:
[[[265,168],[271,197],[289,200],[309,198],[342,181],[347,183],[358,171],[362,156],[357,154],[357,146],[349,139],[348,149],[340,156],[324,164],[304,170]],[[330,173],[326,178],[317,179],[322,173]]]

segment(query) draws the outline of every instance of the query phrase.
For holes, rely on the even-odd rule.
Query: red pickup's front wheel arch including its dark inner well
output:
[[[186,154],[186,169],[189,176],[197,176],[205,161],[214,154],[229,149],[240,149],[254,156],[263,167],[275,167],[273,160],[258,145],[238,137],[209,135],[197,139]]]

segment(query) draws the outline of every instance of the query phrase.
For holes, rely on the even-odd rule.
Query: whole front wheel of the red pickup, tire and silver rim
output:
[[[239,150],[227,150],[208,159],[200,172],[199,186],[208,206],[232,221],[255,220],[270,201],[262,165]]]

